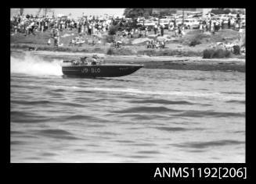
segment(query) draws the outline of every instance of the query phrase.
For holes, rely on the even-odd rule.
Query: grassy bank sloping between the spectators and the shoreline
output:
[[[68,35],[67,35],[68,34]],[[70,40],[78,37],[77,30],[64,30],[60,36],[60,44],[63,46],[55,48],[48,45],[50,32],[37,32],[36,35],[14,34],[11,36],[11,48],[20,48],[28,50],[35,48],[37,51],[70,51],[70,52],[87,52],[87,53],[103,53],[107,55],[150,55],[150,56],[203,56],[205,49],[216,42],[236,41],[239,33],[235,30],[220,30],[215,35],[200,33],[200,30],[186,30],[184,37],[175,38],[173,31],[164,30],[164,37],[167,39],[166,48],[164,49],[148,49],[146,48],[147,40],[157,40],[160,37],[153,37],[153,32],[149,33],[146,38],[123,38],[117,37],[117,40],[123,42],[121,49],[110,48],[111,36],[106,34],[97,36],[100,43],[92,45],[92,36],[82,35],[85,44],[82,46],[69,46]],[[52,43],[53,40],[51,39]],[[243,58],[244,56],[225,53],[221,57]]]

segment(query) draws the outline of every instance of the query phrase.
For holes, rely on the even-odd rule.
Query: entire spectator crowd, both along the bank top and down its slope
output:
[[[132,19],[119,19],[119,18],[99,18],[95,16],[82,16],[78,19],[71,19],[68,16],[13,16],[10,21],[10,30],[14,33],[22,33],[25,36],[27,34],[36,35],[37,32],[44,33],[45,31],[51,31],[51,38],[49,38],[48,44],[51,44],[53,39],[54,46],[59,46],[59,35],[63,30],[74,30],[77,31],[78,35],[96,35],[110,32],[110,27],[118,25],[117,31],[114,35],[117,37],[147,37],[149,30],[153,30],[153,33],[157,36],[164,36],[163,24],[155,22],[153,27],[147,27],[139,25],[138,22],[132,21]],[[225,19],[207,16],[198,19],[198,28],[201,32],[211,32],[215,34],[218,30],[225,28],[233,28],[234,30],[240,30],[242,27],[242,21],[240,14],[236,17],[225,16]],[[168,30],[175,32],[175,37],[182,37],[185,34],[186,24],[176,21],[176,18],[170,19]],[[82,44],[83,41],[80,37],[70,41],[70,45],[76,43]],[[93,43],[92,43],[93,44]],[[118,48],[117,41],[113,43],[114,48]],[[164,44],[161,43],[148,43],[147,48],[163,48]]]

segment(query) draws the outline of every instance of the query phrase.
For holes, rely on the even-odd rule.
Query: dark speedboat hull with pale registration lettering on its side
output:
[[[117,77],[127,76],[134,73],[143,65],[132,64],[102,64],[102,65],[68,65],[62,66],[62,72],[65,76],[79,77]]]

